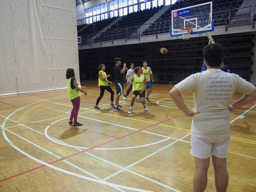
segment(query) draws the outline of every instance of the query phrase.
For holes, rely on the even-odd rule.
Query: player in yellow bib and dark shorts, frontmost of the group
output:
[[[130,86],[132,86],[132,90],[133,90],[132,100],[131,100],[130,109],[128,111],[128,114],[132,113],[132,107],[134,105],[134,100],[138,95],[140,95],[140,99],[142,101],[144,110],[145,111],[148,110],[148,108],[145,105],[145,89],[147,87],[146,78],[144,77],[144,75],[142,75],[141,67],[134,68],[134,72],[136,75],[134,75],[134,77],[131,79],[130,83],[128,84],[128,86],[126,88],[126,93],[127,93],[128,89],[130,88]]]

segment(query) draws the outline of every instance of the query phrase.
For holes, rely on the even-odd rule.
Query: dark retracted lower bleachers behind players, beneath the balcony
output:
[[[254,35],[220,35],[213,37],[224,49],[224,58],[229,61],[232,73],[249,80]],[[79,50],[80,74],[86,74],[86,79],[98,78],[98,64],[104,63],[107,73],[113,73],[114,61],[117,56],[122,62],[134,62],[141,66],[146,60],[159,81],[184,79],[192,73],[200,72],[203,62],[202,50],[208,44],[208,38],[193,38],[187,41],[168,40],[106,48]],[[168,48],[166,56],[160,54],[161,47]],[[112,76],[113,77],[113,76]]]

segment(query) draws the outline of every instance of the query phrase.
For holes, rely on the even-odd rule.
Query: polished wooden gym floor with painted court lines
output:
[[[148,112],[135,102],[130,115],[131,95],[120,97],[123,108],[115,112],[105,92],[95,110],[97,82],[82,85],[88,95],[81,96],[80,127],[68,124],[67,90],[0,97],[1,192],[192,191],[192,119],[172,102],[172,85],[152,84]],[[192,108],[192,95],[183,98]],[[255,108],[253,102],[231,114],[229,192],[256,191]],[[206,192],[214,191],[211,164]]]

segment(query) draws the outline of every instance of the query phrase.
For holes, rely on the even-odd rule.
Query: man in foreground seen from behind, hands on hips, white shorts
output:
[[[220,70],[223,54],[220,44],[204,47],[204,63],[207,70],[192,74],[170,90],[177,107],[192,116],[191,150],[196,170],[194,192],[203,192],[207,185],[207,172],[212,155],[216,191],[225,192],[228,187],[226,158],[230,143],[230,111],[244,106],[256,98],[256,88],[236,74]],[[233,94],[244,94],[230,104]],[[181,95],[194,94],[194,110],[189,110]]]

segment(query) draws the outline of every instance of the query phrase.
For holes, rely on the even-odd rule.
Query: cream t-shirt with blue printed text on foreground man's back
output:
[[[230,134],[228,104],[234,93],[248,95],[255,86],[236,74],[208,69],[192,74],[175,87],[181,95],[193,93],[194,110],[191,133],[198,135]]]

